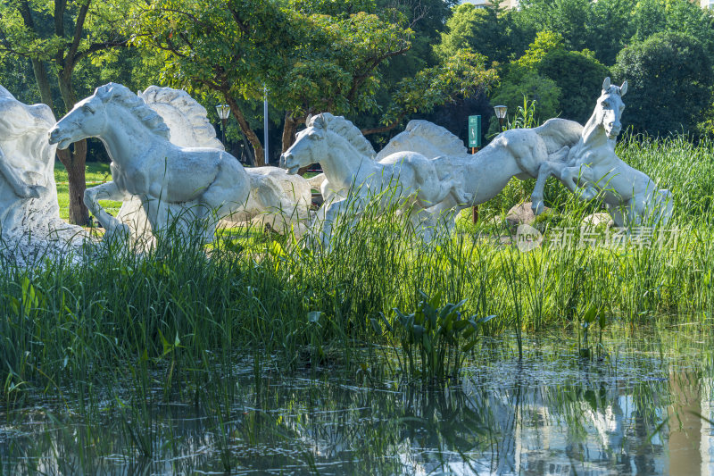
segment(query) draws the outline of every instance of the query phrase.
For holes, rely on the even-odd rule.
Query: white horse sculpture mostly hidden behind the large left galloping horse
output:
[[[216,138],[205,108],[186,91],[151,86],[138,93],[149,107],[162,116],[170,130],[170,141],[181,147],[208,147],[225,150]],[[288,175],[278,167],[247,168],[251,191],[245,208],[225,217],[222,224],[236,226],[253,222],[270,225],[272,230],[284,233],[293,228],[296,235],[306,230],[310,220],[311,186],[299,175]],[[91,192],[90,192],[91,193]],[[179,213],[181,204],[174,205]],[[132,197],[121,206],[117,215],[141,235],[146,216],[138,197]]]

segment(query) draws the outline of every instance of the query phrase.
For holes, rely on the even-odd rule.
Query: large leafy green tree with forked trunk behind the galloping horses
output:
[[[454,83],[437,80],[435,69],[423,69],[419,81],[428,82],[428,99],[404,93],[410,88],[404,81],[394,86],[399,97],[394,107],[380,104],[380,92],[389,89],[386,64],[411,49],[413,19],[370,2],[361,4],[375,13],[347,14],[331,10],[335,3],[153,0],[137,4],[134,43],[162,57],[164,78],[171,84],[225,97],[253,145],[257,165],[262,165],[262,145],[241,100],[262,99],[263,87],[269,90],[272,107],[285,112],[283,150],[311,113],[380,114],[381,127],[395,127],[398,118],[419,106],[429,107],[433,98],[446,100],[454,89],[469,89],[458,81],[473,77],[465,70],[479,65],[474,55],[460,56],[461,69],[439,66]]]

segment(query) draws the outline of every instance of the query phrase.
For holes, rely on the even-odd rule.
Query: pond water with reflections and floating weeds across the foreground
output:
[[[520,362],[510,343],[485,341],[461,385],[447,388],[330,368],[264,372],[258,381],[248,371],[237,379],[232,404],[217,413],[169,404],[128,413],[108,404],[111,410],[90,422],[61,405],[4,412],[0,468],[122,475],[225,468],[232,474],[714,473],[710,330],[616,334],[605,342],[607,355],[592,361],[575,357],[572,337],[529,340]],[[151,457],[142,456],[142,447]]]

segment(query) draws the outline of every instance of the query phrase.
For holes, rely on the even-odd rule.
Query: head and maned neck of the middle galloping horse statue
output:
[[[295,136],[295,143],[280,156],[287,173],[295,174],[311,163],[322,163],[342,154],[371,160],[375,151],[360,129],[342,116],[321,113],[307,121],[307,128]]]

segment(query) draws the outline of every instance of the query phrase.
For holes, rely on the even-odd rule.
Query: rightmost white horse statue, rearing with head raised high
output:
[[[601,193],[618,227],[667,223],[674,206],[669,191],[660,190],[654,180],[615,154],[625,93],[627,81],[618,87],[610,83],[610,78],[604,80],[593,115],[577,144],[570,149],[566,163],[548,163],[539,176],[533,192],[535,213],[543,210],[544,182],[552,174],[573,192],[582,188],[584,199]]]

